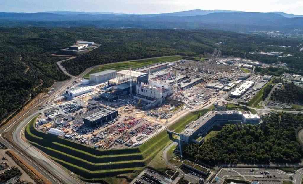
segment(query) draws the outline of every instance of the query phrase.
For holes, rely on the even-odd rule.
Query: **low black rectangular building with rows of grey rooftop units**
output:
[[[89,127],[97,127],[106,124],[108,121],[116,118],[118,111],[112,108],[103,108],[102,110],[83,118],[84,124]]]

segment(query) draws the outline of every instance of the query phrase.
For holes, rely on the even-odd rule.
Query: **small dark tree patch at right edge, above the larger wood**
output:
[[[296,86],[293,82],[285,83],[282,89],[275,89],[270,98],[273,101],[283,103],[302,104],[303,89]]]

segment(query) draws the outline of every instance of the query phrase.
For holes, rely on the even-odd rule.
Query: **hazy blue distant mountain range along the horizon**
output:
[[[0,13],[0,25],[9,21],[31,26],[95,26],[134,28],[221,29],[228,31],[303,30],[303,15],[284,12],[189,10],[162,14],[48,11],[41,13]],[[43,23],[41,23],[43,21]]]

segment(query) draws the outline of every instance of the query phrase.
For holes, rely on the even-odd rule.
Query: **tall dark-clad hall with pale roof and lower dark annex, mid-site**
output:
[[[148,83],[148,74],[132,71],[121,70],[116,73],[116,85],[112,86],[112,93],[117,95],[127,95],[136,93],[137,84]]]

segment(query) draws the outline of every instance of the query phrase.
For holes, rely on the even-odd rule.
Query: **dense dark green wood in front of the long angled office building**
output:
[[[185,155],[208,165],[236,163],[297,163],[302,150],[295,129],[303,115],[282,113],[262,117],[263,123],[228,124],[199,147],[189,144]]]

